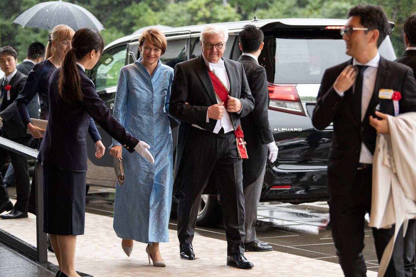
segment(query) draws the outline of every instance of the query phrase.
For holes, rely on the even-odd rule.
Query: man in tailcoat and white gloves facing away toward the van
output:
[[[254,110],[241,118],[248,153],[248,159],[243,160],[244,246],[246,251],[271,251],[273,250],[271,245],[257,239],[254,228],[266,169],[267,150],[269,150],[270,162],[276,161],[278,150],[267,114],[269,93],[266,70],[257,61],[263,48],[263,32],[254,25],[245,25],[238,37],[240,49],[243,51],[238,62],[243,64],[248,85],[254,97]]]

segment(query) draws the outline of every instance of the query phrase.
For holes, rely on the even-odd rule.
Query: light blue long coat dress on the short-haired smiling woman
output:
[[[150,164],[123,147],[126,180],[116,184],[113,228],[119,238],[142,243],[168,242],[172,203],[173,149],[168,103],[173,69],[158,61],[150,76],[141,60],[123,66],[117,83],[114,117],[150,145]],[[114,145],[120,145],[113,140]]]

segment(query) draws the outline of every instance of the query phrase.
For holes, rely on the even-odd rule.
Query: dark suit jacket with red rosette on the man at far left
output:
[[[19,115],[17,114],[16,105],[13,102],[22,91],[25,86],[27,76],[16,72],[15,76],[10,80],[10,100],[7,100],[7,93],[3,97],[3,101],[0,106],[0,116],[3,118],[3,137],[7,137],[11,140],[19,137],[30,137],[27,134],[25,127],[20,121]]]

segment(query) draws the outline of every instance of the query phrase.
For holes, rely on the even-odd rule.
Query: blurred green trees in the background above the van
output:
[[[47,31],[22,28],[11,22],[23,11],[45,0],[0,1],[0,46],[12,45],[19,59],[34,41],[47,43]],[[104,25],[107,43],[149,25],[179,27],[214,22],[284,17],[346,18],[347,11],[358,0],[67,0],[85,7]],[[391,36],[396,54],[404,50],[403,23],[413,12],[416,0],[366,0],[366,4],[384,7],[390,21],[396,24]]]

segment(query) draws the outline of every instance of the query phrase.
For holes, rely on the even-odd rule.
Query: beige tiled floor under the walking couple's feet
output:
[[[85,235],[77,238],[76,269],[95,277],[127,276],[342,276],[339,265],[283,252],[247,252],[246,257],[254,263],[251,270],[240,270],[225,265],[226,243],[223,240],[196,235],[193,247],[197,259],[181,260],[176,231],[169,230],[171,242],[161,243],[161,253],[166,267],[149,265],[146,245],[135,243],[127,257],[121,249],[121,239],[115,235],[113,219],[92,213],[86,214]],[[0,228],[36,245],[36,218],[0,220]],[[50,262],[57,263],[54,254],[48,252]],[[376,276],[376,272],[367,272]]]

